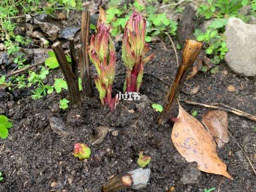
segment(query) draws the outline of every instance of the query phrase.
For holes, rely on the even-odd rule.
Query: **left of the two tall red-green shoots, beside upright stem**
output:
[[[110,27],[98,23],[97,33],[91,37],[89,56],[98,73],[95,84],[101,103],[108,104],[113,111],[116,101],[111,92],[115,79],[116,51],[110,37]]]

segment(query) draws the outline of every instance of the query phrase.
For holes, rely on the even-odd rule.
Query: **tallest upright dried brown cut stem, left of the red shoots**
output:
[[[92,80],[91,68],[88,57],[88,40],[90,31],[90,12],[82,12],[80,43],[82,44],[81,53],[79,56],[80,77],[83,86],[83,93],[85,96],[92,97]]]

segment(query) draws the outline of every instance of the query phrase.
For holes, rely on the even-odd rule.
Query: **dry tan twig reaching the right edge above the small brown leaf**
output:
[[[238,110],[236,108],[229,107],[229,106],[224,105],[222,103],[215,103],[215,105],[207,105],[207,104],[202,104],[202,103],[196,103],[196,102],[193,102],[193,101],[182,101],[182,102],[190,104],[190,105],[205,107],[205,108],[212,108],[212,109],[219,109],[219,110],[228,111],[228,112],[231,112],[235,115],[242,116],[242,117],[245,117],[249,120],[255,120],[256,121],[256,116],[255,115],[245,113],[244,111]],[[219,107],[219,106],[216,106],[216,105],[220,105],[220,106],[223,106],[223,107]]]

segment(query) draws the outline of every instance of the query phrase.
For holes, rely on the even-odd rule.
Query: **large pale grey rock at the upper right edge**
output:
[[[232,71],[244,76],[256,76],[256,25],[230,18],[224,34],[229,49],[225,60]]]

